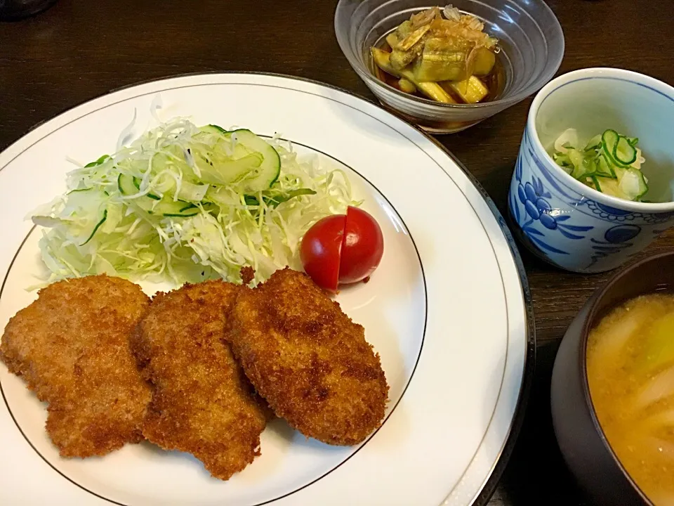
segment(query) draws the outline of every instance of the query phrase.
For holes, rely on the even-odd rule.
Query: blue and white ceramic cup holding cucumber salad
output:
[[[638,137],[650,202],[604,195],[572,178],[548,155],[574,128]],[[510,183],[508,207],[520,241],[550,264],[579,273],[610,271],[674,226],[674,88],[628,70],[569,72],[541,89]]]

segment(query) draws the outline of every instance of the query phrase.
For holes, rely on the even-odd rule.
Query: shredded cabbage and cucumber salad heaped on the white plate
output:
[[[239,281],[242,266],[257,283],[301,268],[304,233],[348,205],[346,174],[298,160],[289,143],[179,118],[70,172],[67,193],[32,220],[46,228],[48,283],[98,273]]]

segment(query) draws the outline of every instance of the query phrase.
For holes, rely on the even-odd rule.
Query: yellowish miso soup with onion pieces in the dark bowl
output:
[[[590,332],[588,383],[623,467],[658,506],[674,505],[674,294],[614,309]]]

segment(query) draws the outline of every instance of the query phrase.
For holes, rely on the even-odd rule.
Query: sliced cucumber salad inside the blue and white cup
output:
[[[648,181],[641,171],[645,160],[638,142],[637,138],[607,130],[581,148],[578,132],[567,129],[555,141],[552,156],[557,165],[590,188],[638,201],[648,191]]]

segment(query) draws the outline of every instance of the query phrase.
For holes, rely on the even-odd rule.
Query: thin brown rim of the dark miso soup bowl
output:
[[[654,506],[654,503],[641,490],[640,486],[637,485],[637,483],[634,481],[632,476],[630,476],[625,467],[623,467],[622,462],[618,458],[618,455],[616,455],[616,453],[614,452],[606,434],[604,434],[604,429],[602,429],[599,419],[597,418],[595,405],[592,401],[592,396],[590,395],[590,384],[588,382],[587,346],[588,346],[588,337],[590,336],[591,330],[590,323],[592,323],[595,317],[597,316],[597,307],[599,306],[599,302],[606,296],[609,290],[612,290],[614,285],[616,285],[616,283],[618,283],[618,281],[621,278],[623,278],[624,275],[635,271],[644,264],[648,264],[649,262],[652,262],[654,260],[659,260],[666,257],[672,257],[674,259],[674,251],[651,254],[643,259],[640,259],[639,261],[636,261],[633,264],[630,264],[626,268],[621,269],[619,272],[615,273],[614,275],[611,276],[611,278],[609,278],[607,283],[602,288],[600,288],[600,290],[594,296],[594,300],[592,302],[592,305],[590,306],[590,311],[588,312],[588,315],[585,317],[585,320],[583,321],[583,327],[581,329],[581,346],[579,346],[579,359],[581,361],[581,371],[583,372],[582,375],[583,397],[585,398],[585,402],[588,408],[590,408],[590,417],[592,418],[592,423],[595,427],[595,430],[597,431],[597,434],[600,435],[602,443],[604,443],[604,448],[608,450],[614,462],[623,473],[623,476],[625,476],[630,485],[633,486],[635,491],[637,491],[642,500],[648,506]]]

